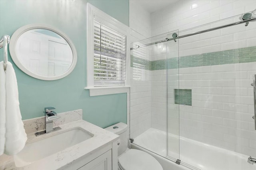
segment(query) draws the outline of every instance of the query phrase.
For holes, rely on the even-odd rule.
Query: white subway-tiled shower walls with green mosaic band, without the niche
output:
[[[134,6],[136,1],[131,3]],[[143,6],[136,6],[130,10],[132,29],[145,37],[172,31],[166,34],[171,37],[174,32],[185,35],[239,21],[239,16],[229,17],[254,10],[256,1],[182,0],[148,13],[150,16]],[[222,20],[224,18],[228,19]],[[217,22],[203,25],[213,21]],[[195,28],[190,29],[192,27]],[[168,133],[180,132],[183,137],[255,157],[253,88],[250,86],[252,74],[256,74],[255,31],[256,22],[251,22],[247,27],[240,24],[178,39],[178,48],[173,41],[168,41],[168,53],[163,44],[132,50],[131,66],[133,69],[137,64],[137,67],[136,72],[131,72],[131,137],[150,127],[166,131],[168,119]],[[137,41],[141,39],[145,38]],[[147,43],[150,42],[138,45]],[[178,88],[192,90],[192,106],[175,104],[174,89]]]

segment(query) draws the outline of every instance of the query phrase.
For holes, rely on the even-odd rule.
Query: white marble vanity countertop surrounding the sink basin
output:
[[[15,166],[12,156],[5,156],[5,158],[2,158],[0,170],[56,170],[58,168],[61,168],[62,166],[71,164],[74,160],[82,156],[92,154],[95,150],[98,150],[99,148],[102,148],[119,138],[118,135],[106,131],[105,129],[102,129],[84,120],[77,120],[59,126],[62,128],[61,130],[54,131],[52,133],[48,133],[39,137],[36,137],[34,135],[34,132],[28,134],[28,140],[26,144],[54,136],[59,133],[63,133],[64,131],[68,131],[69,129],[73,129],[74,127],[85,129],[89,133],[92,133],[94,136],[86,141],[73,145],[72,147],[68,147],[60,152],[57,152],[20,168],[17,168]]]

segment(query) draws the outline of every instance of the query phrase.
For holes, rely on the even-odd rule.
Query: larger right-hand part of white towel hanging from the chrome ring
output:
[[[27,141],[27,135],[20,114],[18,85],[12,64],[6,67],[6,133],[4,153],[14,155],[20,152]]]

